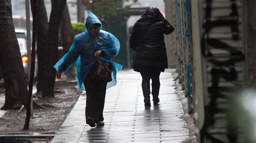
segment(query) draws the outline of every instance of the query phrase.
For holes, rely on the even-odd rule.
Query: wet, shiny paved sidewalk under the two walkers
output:
[[[160,75],[160,102],[144,107],[142,78],[133,70],[122,70],[117,85],[107,90],[103,127],[85,124],[86,93],[64,121],[52,142],[181,142],[189,137],[181,102],[175,94],[171,71]]]

